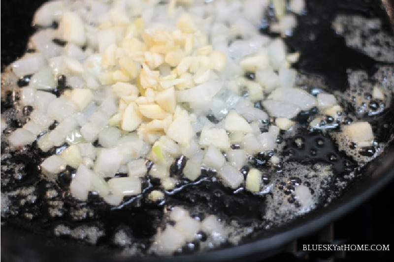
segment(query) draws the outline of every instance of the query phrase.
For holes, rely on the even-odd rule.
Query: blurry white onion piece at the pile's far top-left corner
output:
[[[39,26],[51,26],[53,21],[59,20],[63,13],[63,1],[49,1],[38,8],[34,14],[33,24]]]

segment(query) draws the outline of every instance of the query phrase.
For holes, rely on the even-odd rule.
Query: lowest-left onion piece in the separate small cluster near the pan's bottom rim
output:
[[[166,225],[165,230],[156,235],[157,248],[163,254],[171,254],[177,248],[180,248],[185,241],[184,235],[170,225]]]

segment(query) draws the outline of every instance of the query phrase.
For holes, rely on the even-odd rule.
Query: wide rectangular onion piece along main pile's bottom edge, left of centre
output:
[[[108,180],[109,188],[115,194],[134,196],[141,193],[141,180],[138,177],[115,177]]]

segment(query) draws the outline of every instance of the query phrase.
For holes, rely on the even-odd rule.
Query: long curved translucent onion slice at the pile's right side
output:
[[[301,110],[308,110],[317,106],[316,98],[299,88],[277,88],[272,91],[268,96],[268,99],[291,103],[299,107]]]

